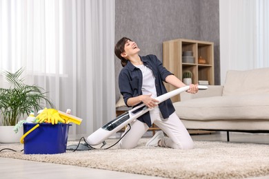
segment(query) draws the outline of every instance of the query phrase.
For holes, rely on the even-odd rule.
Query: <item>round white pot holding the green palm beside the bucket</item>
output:
[[[13,131],[14,126],[0,126],[0,143],[19,143],[23,136],[23,127],[17,133]]]

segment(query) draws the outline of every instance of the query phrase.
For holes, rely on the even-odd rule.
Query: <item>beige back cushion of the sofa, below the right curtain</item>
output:
[[[236,71],[226,74],[223,96],[269,93],[269,68]]]

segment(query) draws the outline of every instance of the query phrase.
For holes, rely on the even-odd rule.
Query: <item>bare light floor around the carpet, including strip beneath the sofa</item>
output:
[[[220,140],[226,141],[225,132],[217,132],[210,135],[192,135],[193,140]],[[269,134],[241,134],[230,133],[230,143],[266,143],[269,144]],[[1,144],[0,144],[1,145]],[[108,171],[101,169],[90,169],[85,167],[74,167],[70,165],[57,165],[28,160],[17,160],[11,158],[0,158],[0,178],[37,178],[37,179],[77,179],[77,178],[157,178],[152,176],[141,176],[132,173]],[[266,179],[269,176],[257,177]]]

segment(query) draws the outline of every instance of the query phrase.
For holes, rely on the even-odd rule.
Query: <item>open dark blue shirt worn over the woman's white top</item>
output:
[[[155,55],[147,55],[140,56],[141,61],[146,67],[152,70],[153,75],[155,76],[155,87],[157,96],[162,94],[166,94],[166,87],[163,85],[163,81],[165,81],[166,76],[172,74],[165,67],[163,67],[163,63],[157,59]],[[123,67],[119,74],[119,90],[123,95],[124,102],[127,105],[127,101],[129,98],[136,97],[142,95],[142,81],[143,76],[142,72],[138,67],[135,67],[128,61],[127,65]],[[141,105],[141,103],[137,104]],[[134,107],[136,107],[135,105]],[[128,105],[127,105],[128,106]],[[130,106],[128,106],[130,107]],[[170,99],[159,103],[159,109],[163,118],[168,118],[173,112],[175,112],[175,108],[172,105],[172,101]],[[147,112],[142,116],[139,116],[137,120],[140,120],[143,123],[146,123],[148,127],[152,125],[150,120],[150,113]]]

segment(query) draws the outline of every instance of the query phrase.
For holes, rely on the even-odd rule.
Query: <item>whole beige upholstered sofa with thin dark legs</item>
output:
[[[230,70],[224,85],[180,97],[174,106],[187,129],[269,132],[269,68]]]

